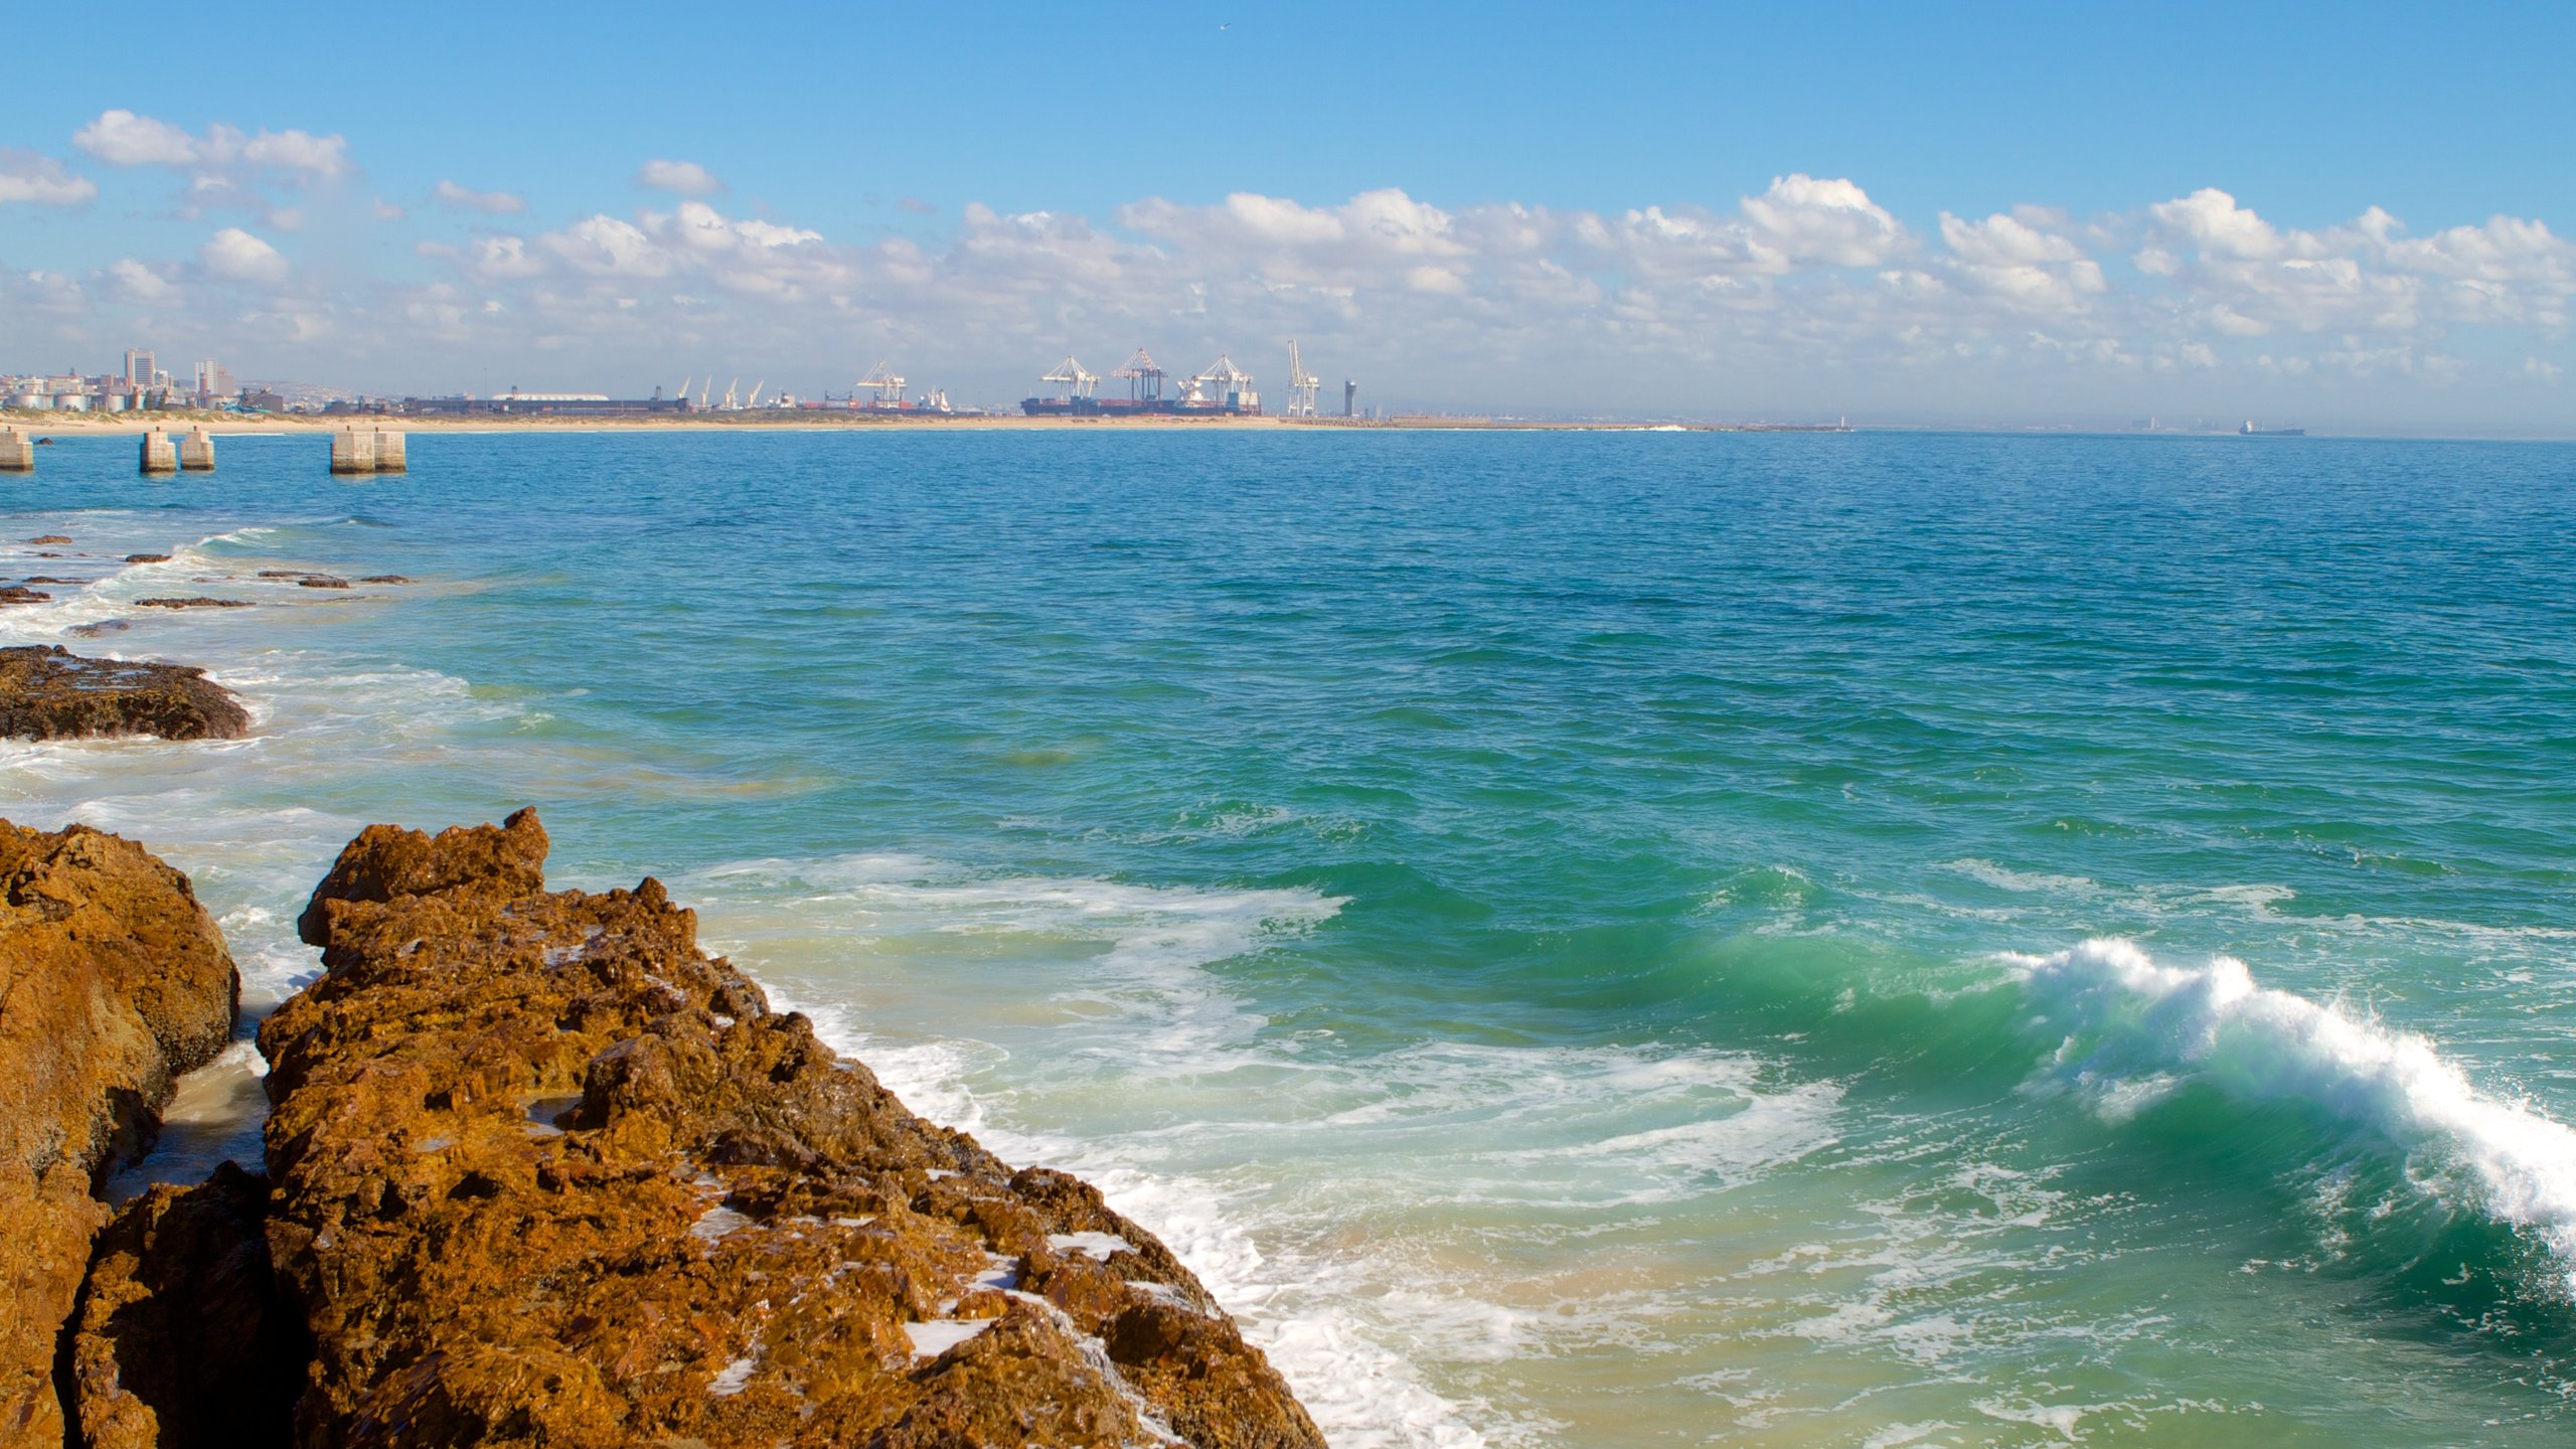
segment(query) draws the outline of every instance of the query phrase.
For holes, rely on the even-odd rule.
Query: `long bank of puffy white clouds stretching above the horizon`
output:
[[[173,147],[149,126],[121,137]],[[72,294],[152,307],[157,322],[222,309],[224,327],[402,358],[384,366],[420,366],[404,348],[417,343],[466,371],[531,356],[562,358],[564,374],[631,358],[688,371],[729,353],[775,379],[801,361],[837,371],[894,356],[940,382],[1028,387],[1023,374],[1066,348],[1108,364],[1151,343],[1175,369],[1231,351],[1265,371],[1265,345],[1283,351],[1293,335],[1309,361],[1334,358],[1329,369],[1494,407],[1723,413],[1806,387],[1857,413],[1868,392],[1847,389],[1880,387],[2002,410],[2092,389],[2172,415],[2154,387],[2197,387],[2215,413],[2275,415],[2277,397],[2257,407],[2244,389],[2414,394],[2509,379],[2512,397],[2555,400],[2563,389],[2540,384],[2576,361],[2563,351],[2576,253],[2517,217],[2416,235],[2362,209],[2300,229],[2202,188],[2089,219],[1937,211],[1917,229],[1852,178],[1790,173],[1718,206],[1242,191],[1211,204],[1149,196],[1108,217],[969,204],[938,229],[842,240],[685,193],[719,186],[703,168],[657,168],[683,162],[636,180],[680,196],[562,227],[510,224],[518,196],[443,180],[438,206],[495,224],[415,240],[428,276],[384,278],[363,297],[348,278],[325,286],[291,271],[245,229],[214,232],[196,266],[129,258],[90,273],[85,294],[72,281]],[[209,193],[232,186],[201,180]]]

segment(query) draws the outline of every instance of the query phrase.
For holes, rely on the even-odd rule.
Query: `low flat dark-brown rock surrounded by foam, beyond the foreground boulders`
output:
[[[90,660],[62,645],[0,650],[0,737],[240,740],[250,712],[188,665]]]

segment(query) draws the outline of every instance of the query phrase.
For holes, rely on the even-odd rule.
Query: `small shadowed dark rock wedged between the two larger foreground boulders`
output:
[[[129,1201],[98,1235],[67,1405],[90,1449],[291,1441],[307,1346],[265,1225],[268,1178],[222,1163]]]

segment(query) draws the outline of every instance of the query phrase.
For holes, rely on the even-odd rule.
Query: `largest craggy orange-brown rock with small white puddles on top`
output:
[[[1321,1446],[1097,1191],[904,1111],[659,882],[544,859],[526,810],[374,825],[299,920],[327,972],[260,1049],[301,1444]]]

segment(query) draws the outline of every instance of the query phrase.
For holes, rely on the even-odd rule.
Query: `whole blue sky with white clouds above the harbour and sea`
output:
[[[21,52],[0,371],[2576,433],[2568,5],[345,15]]]

